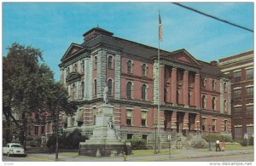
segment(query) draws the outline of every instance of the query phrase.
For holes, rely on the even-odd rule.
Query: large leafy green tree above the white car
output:
[[[20,142],[25,145],[26,133],[32,124],[32,112],[55,113],[55,101],[67,114],[73,104],[68,101],[67,89],[55,83],[53,72],[44,64],[42,52],[30,46],[13,43],[3,57],[3,115],[9,127],[5,140],[11,141],[11,124],[19,131]]]

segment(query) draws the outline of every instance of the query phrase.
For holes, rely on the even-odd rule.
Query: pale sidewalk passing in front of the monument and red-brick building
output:
[[[152,155],[152,156],[142,156],[142,157],[133,157],[132,155],[127,156],[126,161],[128,162],[160,162],[160,161],[170,161],[175,162],[177,159],[188,159],[193,157],[218,157],[218,156],[230,156],[230,155],[239,155],[239,154],[249,154],[253,153],[252,150],[232,150],[226,152],[215,152],[215,151],[197,151],[197,150],[176,150],[176,153],[171,157],[169,155]],[[27,157],[38,161],[44,162],[55,162],[55,153],[32,153]],[[58,155],[58,162],[123,162],[123,157],[85,157],[85,156],[75,156],[67,157],[61,154]]]

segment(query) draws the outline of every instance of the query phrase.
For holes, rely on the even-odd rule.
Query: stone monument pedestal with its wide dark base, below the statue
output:
[[[118,139],[113,125],[113,106],[103,104],[96,115],[96,128],[90,140],[80,142],[79,155],[109,157],[131,154],[131,143]]]

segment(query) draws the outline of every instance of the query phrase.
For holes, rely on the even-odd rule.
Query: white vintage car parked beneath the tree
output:
[[[9,143],[6,146],[3,146],[3,155],[11,156],[11,155],[20,155],[26,157],[26,152],[24,148],[17,143]]]

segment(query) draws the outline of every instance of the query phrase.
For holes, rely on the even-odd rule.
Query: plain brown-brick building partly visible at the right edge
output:
[[[232,134],[253,136],[253,50],[220,59],[221,71],[232,77]]]

